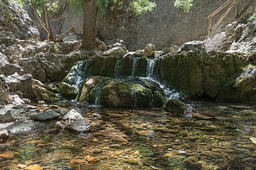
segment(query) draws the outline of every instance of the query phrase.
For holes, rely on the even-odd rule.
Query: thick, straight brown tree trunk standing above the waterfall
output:
[[[84,0],[84,21],[82,33],[82,46],[84,50],[96,49],[96,0]]]

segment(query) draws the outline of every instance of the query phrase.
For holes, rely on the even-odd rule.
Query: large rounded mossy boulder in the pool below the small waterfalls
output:
[[[100,104],[113,107],[161,108],[165,98],[165,92],[154,81],[90,77],[82,87],[79,100],[95,104],[100,100]]]

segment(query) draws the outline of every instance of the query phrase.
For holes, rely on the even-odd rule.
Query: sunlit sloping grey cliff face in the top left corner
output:
[[[39,32],[26,11],[12,0],[0,0],[0,38],[39,40]]]

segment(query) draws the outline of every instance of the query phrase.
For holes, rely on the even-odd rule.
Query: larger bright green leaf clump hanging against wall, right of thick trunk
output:
[[[153,8],[156,7],[156,3],[149,0],[135,0],[130,4],[130,6],[137,15],[140,15],[142,13],[152,11]]]

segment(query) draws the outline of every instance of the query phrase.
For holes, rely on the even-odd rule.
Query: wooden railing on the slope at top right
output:
[[[222,6],[220,6],[220,8],[218,8],[217,10],[215,10],[213,13],[210,14],[210,16],[208,16],[208,20],[209,20],[209,28],[208,28],[208,36],[210,36],[213,31],[218,28],[218,26],[220,26],[220,23],[223,21],[223,19],[225,18],[225,16],[228,15],[228,13],[230,12],[230,10],[235,6],[235,19],[239,18],[240,16],[242,16],[243,13],[245,13],[245,11],[247,10],[247,8],[249,8],[252,3],[255,0],[250,0],[250,2],[247,4],[247,6],[245,6],[245,8],[242,9],[242,11],[240,13],[238,13],[238,4],[239,4],[239,0],[228,0],[225,2],[225,4],[223,4]],[[220,16],[219,20],[215,23],[215,25],[213,26],[213,16],[215,16],[217,13],[219,13],[220,11],[222,11],[225,7],[228,6],[228,9],[223,13],[222,16]]]

